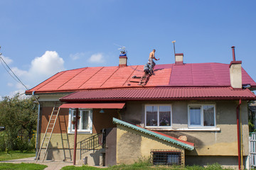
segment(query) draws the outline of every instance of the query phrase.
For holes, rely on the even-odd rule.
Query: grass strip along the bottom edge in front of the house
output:
[[[99,170],[101,168],[96,168],[92,166],[65,166],[62,168],[62,170]],[[108,168],[105,168],[104,170],[223,170],[223,168],[220,166],[220,164],[212,164],[207,167],[203,166],[152,166],[148,162],[137,162],[135,164],[131,165],[115,165],[110,166]]]

